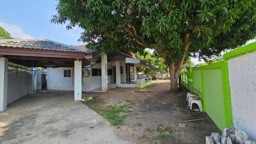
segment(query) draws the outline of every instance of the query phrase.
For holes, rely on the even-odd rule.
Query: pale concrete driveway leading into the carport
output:
[[[116,128],[73,92],[46,91],[23,97],[0,113],[0,143],[125,144]]]

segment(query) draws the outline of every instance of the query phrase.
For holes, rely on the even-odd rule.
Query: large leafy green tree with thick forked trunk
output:
[[[255,37],[255,1],[59,0],[52,22],[83,28],[80,40],[98,51],[154,49],[176,91],[186,58],[209,58]]]

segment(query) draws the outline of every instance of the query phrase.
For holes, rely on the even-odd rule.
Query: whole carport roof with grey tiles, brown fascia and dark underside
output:
[[[45,39],[2,39],[0,56],[26,67],[74,67],[75,60],[83,60],[86,52],[77,47]]]

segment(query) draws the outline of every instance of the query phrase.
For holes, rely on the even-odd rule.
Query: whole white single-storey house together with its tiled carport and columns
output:
[[[27,70],[10,71],[10,63],[27,67]],[[152,83],[150,77],[137,74],[138,68],[145,65],[156,67],[124,52],[107,55],[52,40],[1,39],[0,112],[5,111],[11,102],[45,86],[40,83],[45,78],[40,72],[35,74],[34,67],[47,68],[48,89],[74,90],[74,100],[77,101],[82,99],[82,91],[106,92],[116,86]]]

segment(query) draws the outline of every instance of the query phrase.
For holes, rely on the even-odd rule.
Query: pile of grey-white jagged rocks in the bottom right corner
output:
[[[234,127],[224,129],[222,134],[212,132],[211,136],[205,137],[205,140],[206,144],[256,144],[245,132]]]

